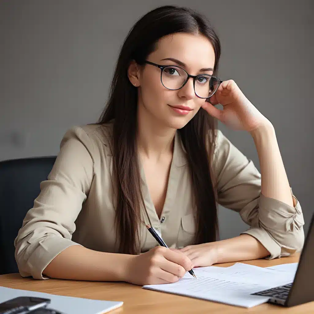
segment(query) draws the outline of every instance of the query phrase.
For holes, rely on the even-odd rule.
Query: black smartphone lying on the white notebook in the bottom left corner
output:
[[[0,303],[0,314],[24,314],[46,307],[50,299],[34,298],[31,296],[20,296]]]

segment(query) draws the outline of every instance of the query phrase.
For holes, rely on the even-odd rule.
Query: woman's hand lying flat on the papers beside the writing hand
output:
[[[210,242],[189,245],[182,249],[172,249],[184,253],[193,263],[194,267],[211,266],[218,260],[218,243]]]

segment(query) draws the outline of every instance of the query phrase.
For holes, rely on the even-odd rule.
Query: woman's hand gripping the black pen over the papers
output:
[[[169,284],[178,281],[192,268],[193,264],[185,254],[156,246],[129,260],[126,281],[138,285]]]

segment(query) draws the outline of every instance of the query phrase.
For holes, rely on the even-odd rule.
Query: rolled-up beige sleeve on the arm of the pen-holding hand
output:
[[[47,279],[42,272],[63,250],[78,245],[71,240],[75,220],[93,180],[93,144],[81,127],[67,131],[60,152],[41,192],[14,241],[22,277]]]

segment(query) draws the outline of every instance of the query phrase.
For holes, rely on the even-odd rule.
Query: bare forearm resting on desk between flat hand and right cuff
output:
[[[270,253],[250,235],[213,242],[216,246],[216,263],[228,263],[263,258]]]

